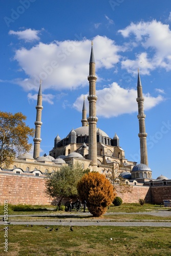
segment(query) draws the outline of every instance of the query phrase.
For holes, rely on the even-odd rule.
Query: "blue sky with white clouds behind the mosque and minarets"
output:
[[[171,178],[170,0],[1,1],[1,111],[22,112],[34,126],[39,80],[41,153],[81,126],[89,105],[91,41],[96,62],[97,127],[125,158],[140,162],[137,70],[144,95],[148,164]],[[33,143],[33,139],[30,139]]]

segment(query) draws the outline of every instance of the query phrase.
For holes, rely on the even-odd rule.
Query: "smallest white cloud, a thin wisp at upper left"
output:
[[[16,35],[18,39],[23,39],[26,42],[30,42],[33,40],[39,40],[40,37],[38,37],[38,34],[40,33],[39,30],[34,30],[34,29],[26,29],[22,31],[14,31],[10,30],[9,35]]]

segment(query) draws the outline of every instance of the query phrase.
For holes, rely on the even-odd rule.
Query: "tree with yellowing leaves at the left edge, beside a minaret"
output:
[[[34,136],[24,122],[26,116],[22,113],[7,113],[0,111],[0,166],[9,167],[16,154],[27,153],[32,144],[28,143],[29,136]]]

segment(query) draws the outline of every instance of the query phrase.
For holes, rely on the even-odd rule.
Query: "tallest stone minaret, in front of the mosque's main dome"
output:
[[[92,49],[91,49],[91,56],[90,56],[90,63],[89,63],[89,159],[92,162],[93,170],[97,169],[97,127],[96,123],[98,118],[96,117],[96,80],[97,77],[95,75],[95,60],[94,60],[94,53],[93,53],[93,42],[92,42]]]

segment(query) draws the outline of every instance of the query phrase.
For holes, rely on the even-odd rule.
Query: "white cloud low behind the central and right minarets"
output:
[[[112,83],[108,88],[97,90],[97,116],[99,117],[117,117],[122,114],[131,114],[138,112],[138,105],[136,102],[137,90],[123,89],[116,82]],[[74,108],[80,111],[82,109],[83,97],[81,95],[76,99]],[[87,98],[88,95],[86,95]],[[164,98],[159,95],[153,97],[149,94],[144,95],[144,110],[149,110],[163,101]],[[87,109],[88,100],[86,102]]]

